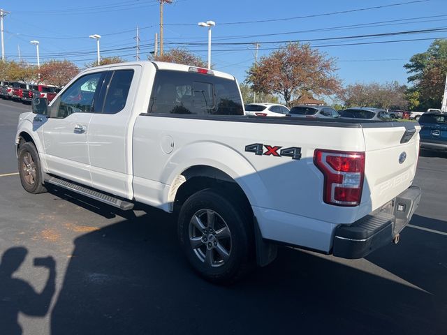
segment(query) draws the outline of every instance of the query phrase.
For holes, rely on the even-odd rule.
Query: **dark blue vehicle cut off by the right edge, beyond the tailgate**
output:
[[[424,113],[419,124],[422,149],[447,150],[447,113]]]

